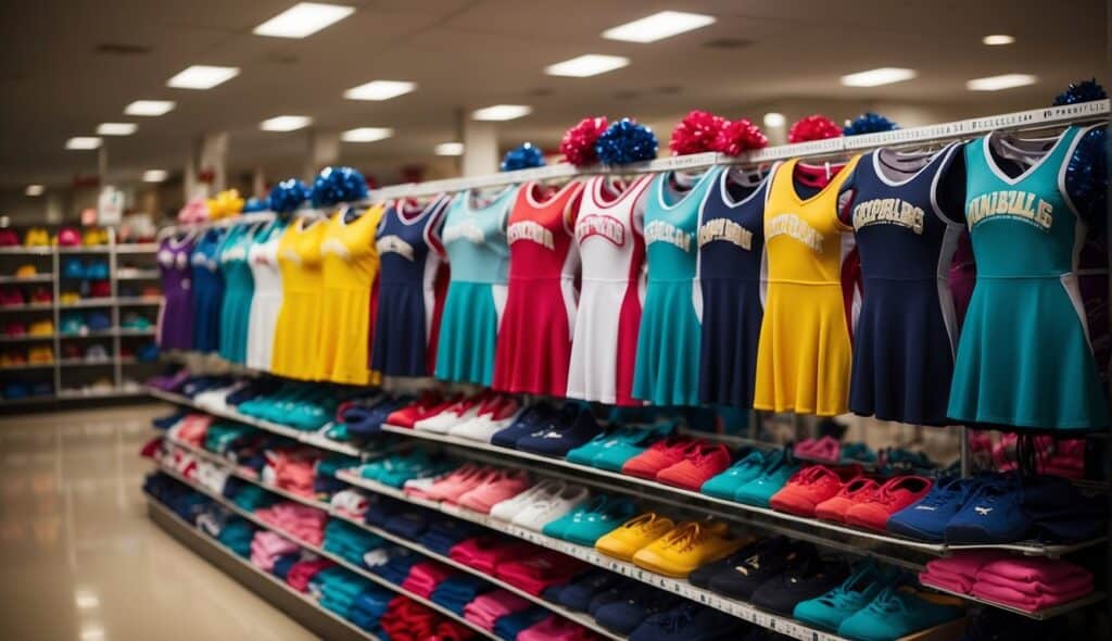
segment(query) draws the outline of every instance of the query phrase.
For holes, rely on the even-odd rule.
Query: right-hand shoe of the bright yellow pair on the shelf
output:
[[[633,555],[649,572],[685,579],[701,565],[717,561],[745,544],[721,521],[688,521]]]

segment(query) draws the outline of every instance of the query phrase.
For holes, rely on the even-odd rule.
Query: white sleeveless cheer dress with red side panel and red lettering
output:
[[[575,221],[583,287],[567,395],[642,405],[633,397],[633,378],[644,287],[644,196],[652,177],[634,180],[617,196],[603,194],[606,179],[596,176],[587,181]]]

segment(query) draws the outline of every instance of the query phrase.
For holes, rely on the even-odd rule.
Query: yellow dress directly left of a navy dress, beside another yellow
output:
[[[368,369],[370,302],[378,277],[375,231],[384,208],[376,205],[347,223],[344,211],[328,221],[320,244],[324,295],[320,307],[320,351],[317,375],[325,381],[367,385],[378,383]]]

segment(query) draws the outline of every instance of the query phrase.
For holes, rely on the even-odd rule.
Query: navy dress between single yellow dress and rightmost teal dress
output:
[[[878,149],[845,183],[853,205],[842,220],[855,233],[864,280],[850,384],[855,414],[946,424],[957,342],[950,266],[964,226],[942,211],[936,191],[956,149],[915,161],[917,171]]]

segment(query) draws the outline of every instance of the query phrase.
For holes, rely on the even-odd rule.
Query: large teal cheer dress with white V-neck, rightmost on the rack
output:
[[[1076,259],[1084,221],[1065,168],[1088,129],[1070,127],[1012,178],[992,157],[992,135],[965,147],[965,217],[976,285],[962,327],[950,417],[1033,428],[1108,425]]]

